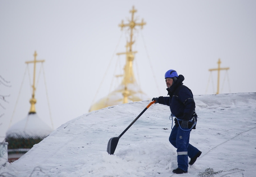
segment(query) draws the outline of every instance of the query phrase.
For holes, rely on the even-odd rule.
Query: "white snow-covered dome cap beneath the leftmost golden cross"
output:
[[[12,125],[6,132],[7,138],[45,138],[52,129],[37,114],[28,114]]]

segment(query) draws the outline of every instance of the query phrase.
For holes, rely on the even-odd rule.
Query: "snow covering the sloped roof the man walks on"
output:
[[[150,101],[130,102],[79,116],[61,125],[28,153],[0,168],[0,176],[197,177],[207,168],[215,177],[256,173],[256,93],[194,96],[198,123],[190,143],[202,155],[188,173],[174,174],[176,149],[168,142],[168,106],[153,104],[120,138],[114,155],[107,143],[119,136]],[[10,175],[11,174],[11,175]]]

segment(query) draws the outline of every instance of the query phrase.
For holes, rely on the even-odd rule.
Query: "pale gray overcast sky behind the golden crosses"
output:
[[[94,101],[107,96],[113,75],[121,74],[120,68],[114,72],[116,62],[125,61],[116,55],[125,51],[127,38],[118,24],[131,18],[132,6],[137,9],[137,22],[144,18],[147,23],[135,33],[134,70],[149,98],[166,95],[164,73],[169,69],[185,76],[183,83],[194,95],[214,94],[217,72],[212,73],[206,92],[208,70],[217,68],[219,58],[221,67],[230,67],[221,72],[220,93],[256,92],[255,0],[2,0],[0,75],[11,87],[0,85],[0,94],[11,96],[9,103],[1,102],[6,109],[0,107],[0,114],[4,113],[0,136],[12,116],[15,123],[29,111],[28,72],[14,108],[25,61],[34,59],[35,50],[37,59],[45,59],[54,128],[88,113],[95,95]],[[32,77],[32,65],[29,68]],[[42,72],[36,99],[37,114],[51,125]]]

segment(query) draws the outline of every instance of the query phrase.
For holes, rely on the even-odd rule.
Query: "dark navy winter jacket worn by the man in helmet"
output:
[[[191,90],[182,83],[184,79],[184,76],[179,75],[178,80],[166,89],[170,97],[160,96],[158,103],[170,106],[172,114],[178,119],[191,120],[194,117],[196,105]]]

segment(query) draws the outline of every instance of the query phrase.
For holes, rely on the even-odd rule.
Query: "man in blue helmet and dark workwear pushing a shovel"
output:
[[[170,143],[177,148],[178,168],[173,173],[187,173],[188,167],[202,154],[196,147],[189,144],[191,129],[196,129],[197,115],[195,102],[191,90],[183,85],[184,76],[177,74],[175,70],[168,70],[165,73],[166,90],[168,97],[160,96],[153,98],[155,103],[168,105],[175,117],[175,125],[169,137]],[[188,163],[188,157],[190,162]]]

